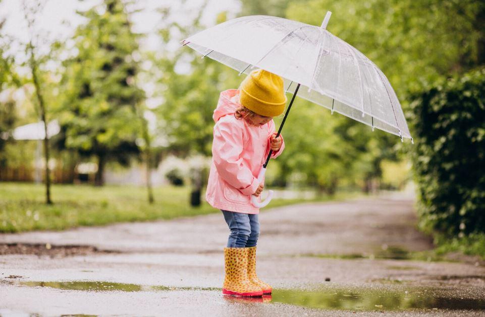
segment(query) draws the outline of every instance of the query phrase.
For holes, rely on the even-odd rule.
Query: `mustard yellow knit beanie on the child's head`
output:
[[[276,117],[285,111],[283,79],[264,69],[253,70],[239,87],[241,104],[258,115]]]

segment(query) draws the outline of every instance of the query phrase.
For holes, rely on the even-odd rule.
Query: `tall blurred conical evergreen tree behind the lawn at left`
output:
[[[97,158],[95,185],[102,185],[107,162],[127,165],[139,153],[137,107],[144,92],[135,85],[139,71],[137,38],[121,0],[79,14],[87,23],[74,35],[74,56],[64,62],[65,100],[61,125],[65,146]]]

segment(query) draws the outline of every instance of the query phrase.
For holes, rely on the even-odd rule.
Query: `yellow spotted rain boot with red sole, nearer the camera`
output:
[[[248,248],[224,248],[226,278],[223,294],[236,296],[261,296],[262,289],[248,279]]]

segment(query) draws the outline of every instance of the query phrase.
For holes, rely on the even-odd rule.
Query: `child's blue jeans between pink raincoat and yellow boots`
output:
[[[231,230],[227,241],[228,248],[255,247],[259,237],[257,214],[221,210]]]

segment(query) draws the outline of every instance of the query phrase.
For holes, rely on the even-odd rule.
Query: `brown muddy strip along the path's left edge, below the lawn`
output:
[[[113,254],[117,251],[99,250],[93,246],[61,246],[50,244],[3,243],[0,244],[1,255],[33,254],[36,256],[49,256],[51,258],[64,258],[78,255]]]

